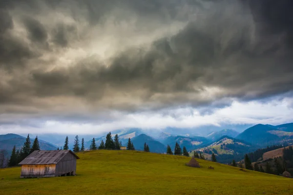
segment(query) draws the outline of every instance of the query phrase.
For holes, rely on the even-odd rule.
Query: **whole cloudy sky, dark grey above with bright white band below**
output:
[[[292,0],[1,0],[0,133],[293,122]]]

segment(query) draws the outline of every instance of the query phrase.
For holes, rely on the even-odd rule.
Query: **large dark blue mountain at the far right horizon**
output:
[[[273,144],[282,144],[292,142],[293,136],[288,132],[280,131],[278,129],[285,129],[289,131],[290,125],[280,125],[280,127],[272,125],[257,124],[244,132],[239,134],[236,138],[246,140],[253,145],[269,146]]]

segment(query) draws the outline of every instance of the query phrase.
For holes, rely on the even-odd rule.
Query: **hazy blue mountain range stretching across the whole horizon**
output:
[[[146,144],[149,145],[150,151],[155,153],[165,153],[167,145],[169,145],[173,150],[176,142],[179,143],[182,148],[185,146],[188,151],[199,149],[209,149],[212,151],[212,149],[217,150],[221,147],[221,145],[223,148],[224,143],[225,145],[227,145],[227,143],[230,144],[230,148],[225,146],[225,150],[220,149],[222,150],[220,152],[217,150],[218,154],[223,155],[241,154],[245,150],[248,151],[253,148],[266,147],[272,144],[293,144],[293,123],[276,126],[269,124],[257,124],[246,129],[240,134],[238,131],[224,129],[209,131],[209,134],[206,136],[194,136],[195,134],[192,134],[190,129],[187,131],[177,129],[177,134],[175,130],[176,129],[174,128],[169,128],[161,133],[154,133],[150,131],[150,134],[153,136],[149,135],[147,131],[138,128],[116,130],[111,133],[113,137],[115,134],[118,134],[124,146],[126,146],[128,138],[131,138],[131,141],[137,150],[143,150],[144,143],[146,142]],[[56,149],[56,146],[63,146],[66,136],[40,135],[38,137],[40,138],[40,146],[42,149],[54,150]],[[73,146],[74,137],[75,136],[73,135],[69,136],[70,148]],[[84,146],[88,149],[92,140],[90,137],[93,136],[80,136],[80,141],[82,137],[85,139]],[[11,151],[14,145],[20,149],[24,140],[25,137],[16,134],[0,135],[0,149],[4,148]],[[102,140],[105,141],[105,135],[95,137],[95,140],[96,144],[99,145]]]

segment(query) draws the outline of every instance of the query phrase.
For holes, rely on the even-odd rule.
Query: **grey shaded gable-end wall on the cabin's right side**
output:
[[[76,172],[76,157],[68,153],[56,164],[55,176],[61,176],[70,172],[74,174]]]

